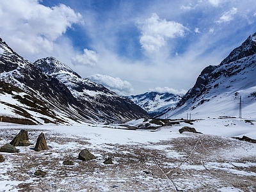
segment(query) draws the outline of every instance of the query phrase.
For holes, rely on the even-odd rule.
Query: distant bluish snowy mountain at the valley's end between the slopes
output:
[[[135,104],[143,108],[151,116],[157,116],[173,109],[182,95],[173,93],[147,92],[140,95],[131,95],[127,97]]]

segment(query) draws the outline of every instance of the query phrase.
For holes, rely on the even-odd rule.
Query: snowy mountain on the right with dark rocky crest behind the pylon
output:
[[[186,113],[191,113],[192,118],[238,117],[242,112],[244,118],[255,118],[256,114],[252,113],[255,108],[256,33],[230,52],[220,65],[204,68],[193,88],[182,97],[175,110],[168,111],[168,115],[180,118],[186,118]]]

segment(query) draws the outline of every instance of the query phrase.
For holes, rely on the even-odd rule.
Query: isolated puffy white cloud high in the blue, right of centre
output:
[[[138,24],[142,34],[140,37],[141,47],[150,53],[159,51],[166,44],[167,39],[183,36],[186,30],[179,22],[159,19],[156,13],[153,13],[152,17],[145,22]]]

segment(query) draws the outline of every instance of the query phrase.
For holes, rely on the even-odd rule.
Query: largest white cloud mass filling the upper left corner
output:
[[[36,0],[8,0],[1,1],[0,20],[0,36],[27,56],[52,52],[54,41],[82,16],[64,4],[49,8]]]

